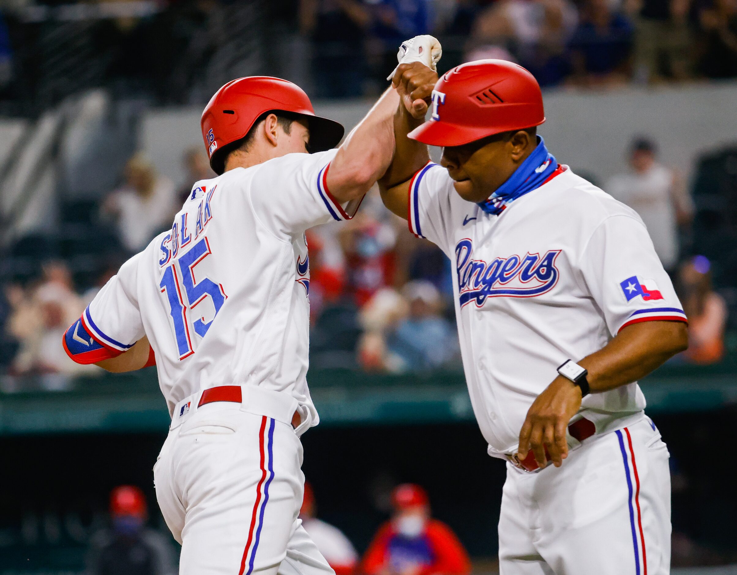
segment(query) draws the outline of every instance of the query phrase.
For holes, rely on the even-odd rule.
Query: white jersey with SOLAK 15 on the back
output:
[[[85,310],[83,327],[99,344],[122,351],[148,336],[170,413],[203,388],[248,384],[291,394],[303,422],[308,415],[317,425],[306,380],[304,231],[349,218],[326,187],[336,151],[199,181],[172,229],[125,262]]]

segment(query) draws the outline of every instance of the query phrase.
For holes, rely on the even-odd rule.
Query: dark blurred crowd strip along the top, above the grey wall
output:
[[[443,69],[513,60],[542,86],[737,77],[737,0],[10,0],[0,102],[85,88],[206,101],[231,77],[297,80],[314,97],[376,94],[406,38]],[[51,62],[55,65],[51,65]],[[84,66],[81,66],[81,64]]]

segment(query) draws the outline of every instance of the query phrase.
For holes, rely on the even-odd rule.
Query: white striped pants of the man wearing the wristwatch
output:
[[[668,447],[644,417],[584,441],[561,467],[507,464],[500,575],[667,575]]]

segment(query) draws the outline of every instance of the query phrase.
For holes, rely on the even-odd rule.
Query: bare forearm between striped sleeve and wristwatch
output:
[[[688,347],[688,327],[680,321],[632,324],[598,352],[580,360],[592,393],[637,381]]]

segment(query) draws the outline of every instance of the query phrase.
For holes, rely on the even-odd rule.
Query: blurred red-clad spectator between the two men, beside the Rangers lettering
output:
[[[397,235],[391,223],[380,222],[363,210],[339,233],[346,258],[346,291],[362,307],[394,279]]]

